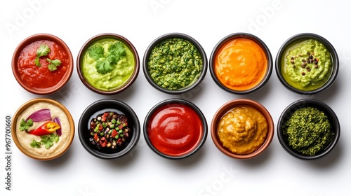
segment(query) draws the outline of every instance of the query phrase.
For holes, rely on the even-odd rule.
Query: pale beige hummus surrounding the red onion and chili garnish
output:
[[[51,146],[48,149],[44,148],[44,145],[41,145],[41,148],[34,148],[30,146],[33,139],[36,141],[41,141],[41,137],[33,134],[29,134],[26,131],[20,131],[20,120],[27,119],[27,117],[30,114],[34,113],[35,111],[39,111],[40,109],[49,109],[52,119],[56,117],[60,118],[60,126],[62,130],[62,134],[59,137],[59,141],[57,143],[54,142],[53,146]],[[46,122],[47,121],[33,123],[33,126],[29,127],[28,131],[35,130],[37,129],[37,127],[40,127]],[[70,128],[71,127],[69,127],[68,118],[65,115],[64,111],[62,111],[57,106],[54,106],[53,104],[48,104],[46,102],[39,102],[37,104],[33,104],[32,106],[29,106],[25,111],[23,111],[20,114],[20,116],[18,116],[15,132],[17,134],[18,141],[23,146],[23,148],[25,148],[29,153],[33,153],[34,155],[50,156],[50,155],[59,153],[65,148],[67,141],[69,139]]]

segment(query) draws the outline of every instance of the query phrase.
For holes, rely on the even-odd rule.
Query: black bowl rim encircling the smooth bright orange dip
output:
[[[267,57],[267,72],[265,73],[265,77],[260,81],[260,83],[258,83],[258,85],[256,85],[255,87],[253,87],[251,89],[248,89],[248,90],[232,90],[228,87],[225,87],[225,85],[220,83],[220,81],[218,80],[216,73],[213,69],[214,60],[216,58],[218,50],[223,45],[225,45],[225,43],[227,43],[228,41],[230,41],[234,38],[249,38],[252,41],[255,41],[258,45],[260,45],[260,48],[263,49],[263,51],[265,52],[265,55]],[[220,41],[218,41],[218,43],[216,43],[215,47],[213,48],[213,50],[211,52],[211,56],[210,56],[210,61],[209,61],[209,69],[210,69],[210,73],[211,73],[211,77],[212,77],[213,81],[221,89],[223,89],[227,92],[230,92],[232,94],[251,94],[251,93],[256,92],[256,91],[260,90],[261,88],[263,88],[267,84],[268,80],[270,80],[270,76],[272,75],[272,70],[273,70],[272,53],[270,52],[270,49],[265,44],[265,42],[262,39],[258,38],[258,36],[255,36],[255,35],[249,34],[249,33],[244,33],[244,32],[229,34],[229,35],[225,36],[224,38],[220,39]]]

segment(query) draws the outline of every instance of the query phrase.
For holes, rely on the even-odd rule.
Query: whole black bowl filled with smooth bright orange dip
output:
[[[218,63],[220,57],[221,63]],[[238,60],[230,62],[229,59]],[[260,62],[264,64],[260,66]],[[218,64],[222,64],[221,69],[217,69]],[[250,94],[260,90],[270,79],[273,70],[272,55],[267,45],[257,36],[247,33],[230,34],[222,38],[213,48],[209,69],[214,82],[221,89],[232,94]],[[224,80],[220,77],[224,74],[220,71],[222,69],[225,70],[224,73],[230,73],[235,78],[230,81]],[[260,77],[253,77],[256,75]],[[241,80],[248,78],[247,81]]]

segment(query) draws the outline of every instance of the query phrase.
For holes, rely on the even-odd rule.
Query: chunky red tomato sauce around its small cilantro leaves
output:
[[[37,49],[41,44],[46,44],[51,52],[44,57],[39,58],[41,66],[34,64],[34,59],[37,57]],[[48,69],[50,64],[46,58],[60,59],[61,64],[55,71]],[[35,41],[23,48],[18,57],[18,71],[22,80],[27,85],[34,88],[48,88],[56,85],[68,69],[69,57],[67,52],[57,43],[53,41],[41,40]]]

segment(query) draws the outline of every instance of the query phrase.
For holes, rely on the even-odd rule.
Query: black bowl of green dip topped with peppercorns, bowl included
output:
[[[317,34],[297,34],[279,49],[277,76],[292,92],[316,94],[333,85],[339,60],[333,45]]]

